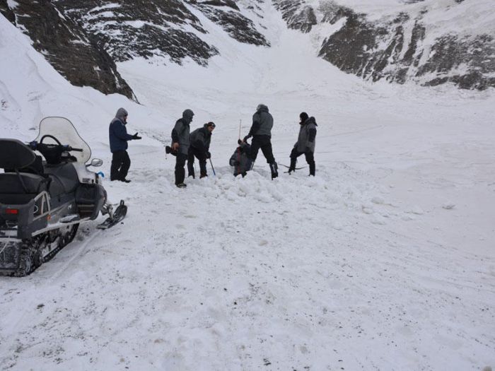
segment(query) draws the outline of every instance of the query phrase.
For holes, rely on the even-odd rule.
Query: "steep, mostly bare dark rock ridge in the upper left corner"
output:
[[[135,99],[98,40],[61,16],[50,1],[18,0],[13,9],[1,1],[1,13],[25,30],[33,40],[33,47],[72,84]]]

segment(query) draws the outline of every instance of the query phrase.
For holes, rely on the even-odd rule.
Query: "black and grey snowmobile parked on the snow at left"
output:
[[[35,151],[42,154],[37,155]],[[46,117],[35,141],[0,139],[0,274],[26,276],[74,240],[81,223],[124,218],[124,201],[113,210],[101,178],[88,167],[94,158],[76,128],[64,117]],[[86,163],[88,163],[86,165]]]

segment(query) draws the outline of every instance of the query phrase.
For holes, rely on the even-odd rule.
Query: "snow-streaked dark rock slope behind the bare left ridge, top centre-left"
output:
[[[240,42],[268,45],[233,0],[54,0],[65,16],[100,42],[115,61],[134,57],[169,57],[177,64],[190,57],[206,66],[219,54],[202,40],[207,31],[191,8],[204,13]],[[226,10],[228,9],[228,10]]]

